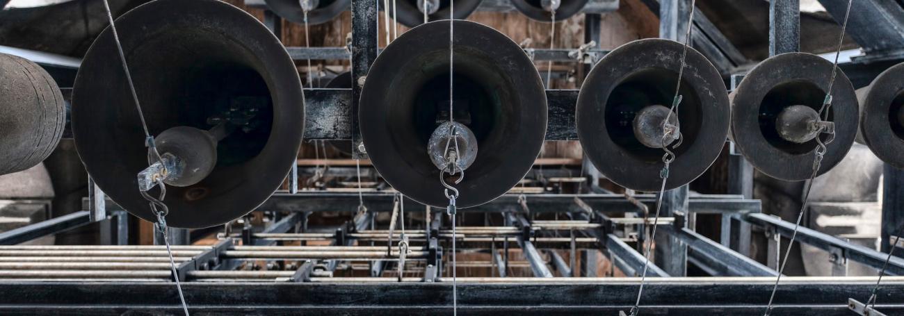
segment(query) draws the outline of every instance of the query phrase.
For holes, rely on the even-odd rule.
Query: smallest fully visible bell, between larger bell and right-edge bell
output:
[[[789,52],[760,62],[731,93],[732,140],[758,171],[785,181],[808,180],[817,137],[828,143],[817,176],[851,149],[857,96],[842,70],[837,70],[828,120],[819,116],[832,70],[832,61]]]

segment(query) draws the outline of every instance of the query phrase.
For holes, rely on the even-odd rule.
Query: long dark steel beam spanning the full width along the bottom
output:
[[[354,280],[359,280],[355,278]],[[617,314],[636,299],[638,278],[484,278],[483,283],[458,278],[457,303],[466,313]],[[193,312],[306,314],[393,314],[451,312],[450,280],[437,283],[183,283]],[[904,280],[882,280],[877,309],[904,312]],[[341,281],[334,281],[341,282]],[[530,283],[525,283],[530,282]],[[647,279],[646,314],[762,314],[775,278]],[[173,283],[40,283],[0,284],[0,313],[181,312]],[[778,286],[776,314],[850,315],[849,298],[870,296],[875,278],[788,277]]]

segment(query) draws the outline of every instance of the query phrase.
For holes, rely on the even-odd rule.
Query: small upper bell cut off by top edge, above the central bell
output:
[[[390,13],[399,23],[408,27],[415,27],[424,23],[424,14],[427,14],[428,21],[448,20],[449,18],[449,1],[448,0],[394,0],[395,10],[392,9],[393,4],[390,2],[389,10],[383,8],[383,2],[377,1],[377,4]],[[477,10],[477,6],[483,0],[457,0],[455,2],[455,11],[452,16],[456,20],[464,20],[468,15],[473,14]],[[395,11],[398,11],[395,12]]]

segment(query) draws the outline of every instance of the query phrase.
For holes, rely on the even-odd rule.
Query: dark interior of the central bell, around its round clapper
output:
[[[394,115],[389,126],[393,143],[421,174],[436,172],[427,154],[430,135],[448,120],[448,51],[433,51],[416,57],[400,70],[387,93]],[[513,81],[495,65],[490,56],[479,51],[456,51],[453,82],[454,111],[457,122],[466,125],[477,139],[477,158],[467,170],[480,174],[504,163],[510,151],[510,138],[517,137],[522,100],[516,98]],[[536,126],[523,126],[532,128]],[[473,179],[473,178],[472,178]]]

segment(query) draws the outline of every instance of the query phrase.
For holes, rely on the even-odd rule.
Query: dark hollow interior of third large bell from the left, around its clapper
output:
[[[662,68],[638,70],[619,81],[609,93],[604,114],[606,130],[612,141],[625,149],[625,153],[649,163],[662,163],[663,149],[641,144],[634,134],[633,122],[637,112],[644,107],[654,105],[671,107],[677,78],[678,73],[673,70]],[[677,113],[681,122],[682,144],[674,148],[669,146],[678,156],[691,147],[700,133],[702,121],[700,98],[685,79],[682,79],[680,94],[683,98]]]

